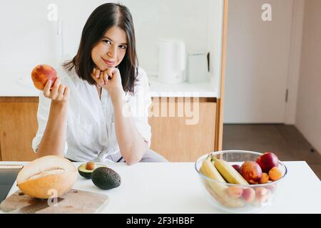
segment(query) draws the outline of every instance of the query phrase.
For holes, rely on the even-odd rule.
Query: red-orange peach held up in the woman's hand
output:
[[[47,81],[51,80],[51,85],[54,84],[54,81],[56,81],[57,78],[57,72],[51,66],[41,64],[32,70],[31,78],[37,89],[44,90]]]

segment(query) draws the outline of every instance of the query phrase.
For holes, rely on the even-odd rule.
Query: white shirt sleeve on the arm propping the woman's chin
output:
[[[143,139],[151,147],[151,125],[148,124],[148,109],[151,105],[151,93],[146,72],[138,68],[138,81],[134,86],[134,94],[128,98],[133,123]]]

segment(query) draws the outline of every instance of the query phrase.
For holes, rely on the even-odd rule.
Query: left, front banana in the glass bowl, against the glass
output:
[[[223,183],[225,182],[224,178],[220,175],[220,172],[218,172],[212,162],[210,162],[210,157],[203,160],[200,172],[213,180]],[[206,190],[210,192],[210,195],[226,207],[242,207],[244,205],[244,202],[240,198],[230,197],[228,194],[228,186],[205,179],[202,181],[204,182],[203,184]]]

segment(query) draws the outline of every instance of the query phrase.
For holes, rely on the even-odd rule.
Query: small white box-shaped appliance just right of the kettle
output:
[[[208,53],[191,53],[188,55],[188,83],[206,82],[209,79]]]

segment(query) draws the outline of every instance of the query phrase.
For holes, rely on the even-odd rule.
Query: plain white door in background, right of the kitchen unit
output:
[[[292,2],[229,0],[224,123],[284,123]]]

